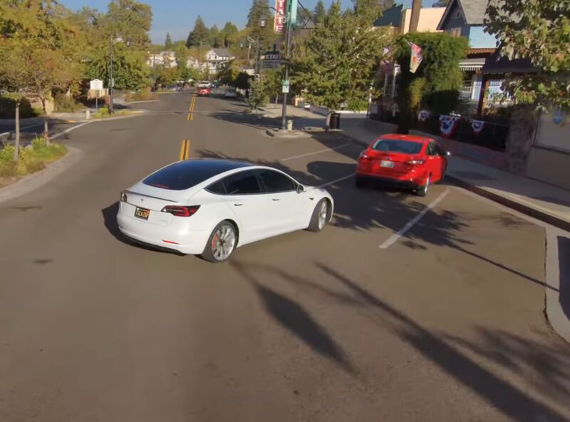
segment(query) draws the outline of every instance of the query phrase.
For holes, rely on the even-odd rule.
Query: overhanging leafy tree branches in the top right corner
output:
[[[497,36],[502,56],[528,58],[538,70],[507,78],[504,88],[515,101],[570,110],[570,3],[492,1],[484,24]]]

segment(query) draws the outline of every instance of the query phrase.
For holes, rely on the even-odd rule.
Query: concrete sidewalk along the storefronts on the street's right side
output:
[[[277,117],[277,112],[280,115],[281,106],[266,108],[268,117]],[[288,107],[287,116],[294,120],[297,129],[323,127],[326,124],[326,118],[322,115],[301,108]],[[342,115],[341,129],[342,133],[364,146],[383,133],[395,133],[396,126],[367,119],[364,115]],[[413,133],[422,134],[415,130]],[[427,136],[432,137],[429,134]],[[568,190],[457,156],[450,158],[447,177],[479,195],[570,231]]]

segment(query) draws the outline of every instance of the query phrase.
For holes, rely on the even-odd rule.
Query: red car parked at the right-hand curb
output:
[[[382,135],[361,153],[356,186],[367,180],[409,187],[427,195],[430,185],[443,180],[447,153],[431,138],[414,135]]]

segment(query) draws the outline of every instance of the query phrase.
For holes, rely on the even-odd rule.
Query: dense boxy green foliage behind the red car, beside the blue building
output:
[[[423,61],[415,73],[410,72],[410,45],[422,48]],[[398,105],[400,133],[408,133],[418,107],[423,105],[437,113],[449,113],[457,106],[463,74],[461,58],[469,47],[467,38],[442,33],[406,34],[398,40],[396,59],[400,64]]]

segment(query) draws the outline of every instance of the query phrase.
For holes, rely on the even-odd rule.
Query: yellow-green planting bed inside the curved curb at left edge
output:
[[[30,146],[20,149],[20,159],[14,163],[14,146],[0,150],[0,186],[9,185],[20,177],[31,175],[46,168],[66,155],[67,148],[60,143],[47,145],[44,138],[35,138]]]

